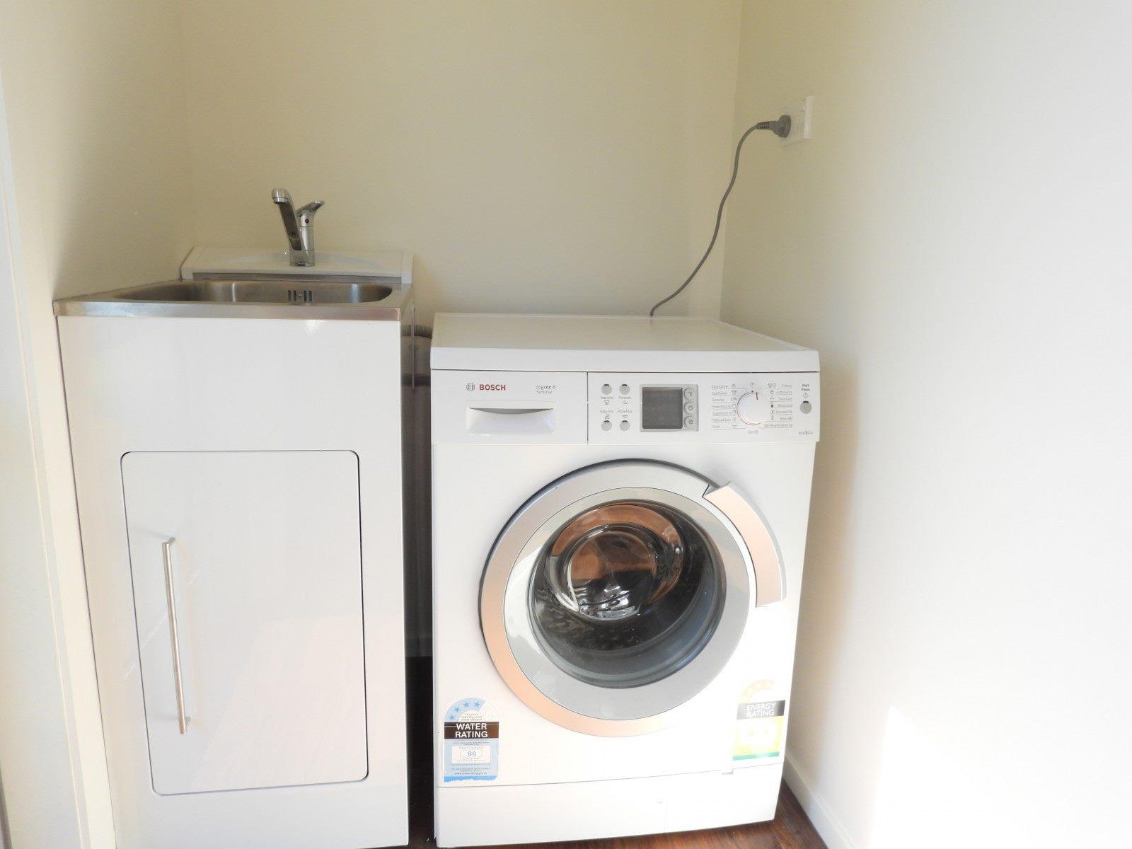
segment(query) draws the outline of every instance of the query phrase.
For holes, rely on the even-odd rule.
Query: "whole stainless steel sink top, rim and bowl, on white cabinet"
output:
[[[57,316],[398,320],[396,278],[252,275],[171,280],[55,301]]]

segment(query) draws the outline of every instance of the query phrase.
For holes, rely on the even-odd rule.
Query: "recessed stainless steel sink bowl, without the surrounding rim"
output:
[[[374,303],[388,298],[380,283],[309,280],[174,280],[112,293],[120,301],[207,303]]]

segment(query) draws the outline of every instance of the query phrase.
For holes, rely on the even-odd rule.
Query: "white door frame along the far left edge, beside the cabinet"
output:
[[[50,297],[23,274],[0,85],[0,848],[112,849]]]

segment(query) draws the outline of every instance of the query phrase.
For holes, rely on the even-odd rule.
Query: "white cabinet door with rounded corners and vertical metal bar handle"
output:
[[[357,455],[134,452],[121,468],[154,791],[365,778]]]

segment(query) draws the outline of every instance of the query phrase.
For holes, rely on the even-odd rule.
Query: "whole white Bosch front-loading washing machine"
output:
[[[436,317],[441,847],[774,816],[820,409],[720,321]]]

